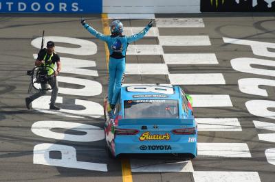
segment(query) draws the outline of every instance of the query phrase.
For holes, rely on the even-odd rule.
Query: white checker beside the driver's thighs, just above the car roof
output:
[[[167,64],[126,64],[125,74],[168,75]]]

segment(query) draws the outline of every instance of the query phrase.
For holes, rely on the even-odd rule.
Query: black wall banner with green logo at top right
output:
[[[274,12],[275,0],[201,0],[201,12]]]

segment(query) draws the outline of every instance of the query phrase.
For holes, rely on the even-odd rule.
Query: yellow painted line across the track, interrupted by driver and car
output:
[[[103,26],[103,34],[104,35],[110,35],[110,29],[109,29],[109,19],[107,14],[101,14],[101,21]],[[107,46],[107,43],[104,43],[105,47],[105,55],[106,55],[106,64],[107,64],[107,70],[109,71],[109,49]],[[131,172],[131,165],[129,159],[121,159],[121,168],[122,168],[122,180],[123,182],[133,182],[132,178],[132,172]]]

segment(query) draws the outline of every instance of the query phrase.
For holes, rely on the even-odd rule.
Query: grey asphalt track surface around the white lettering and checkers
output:
[[[84,15],[94,28],[102,31],[100,15]],[[120,159],[109,159],[104,150],[104,140],[97,142],[69,142],[43,138],[32,133],[32,124],[40,120],[61,120],[79,122],[96,127],[104,127],[101,118],[68,118],[37,112],[25,108],[30,78],[26,70],[32,68],[32,54],[39,49],[32,47],[31,41],[41,36],[45,29],[46,36],[67,36],[91,40],[96,43],[95,55],[61,56],[83,60],[96,60],[98,77],[61,73],[61,76],[92,79],[102,84],[102,93],[96,96],[74,96],[61,94],[64,98],[63,108],[74,105],[74,99],[84,99],[102,104],[107,93],[107,66],[104,43],[92,37],[80,25],[80,16],[58,15],[5,15],[0,16],[0,181],[122,181]],[[176,73],[222,73],[225,84],[183,86],[189,94],[228,94],[233,107],[195,107],[198,118],[238,118],[241,131],[199,131],[198,142],[201,143],[245,143],[251,157],[209,157],[199,155],[192,160],[194,171],[205,172],[258,172],[261,181],[274,181],[275,166],[268,163],[265,150],[274,148],[274,143],[259,140],[259,133],[272,133],[255,129],[252,120],[274,122],[272,119],[256,117],[248,112],[245,102],[253,99],[267,99],[263,96],[244,94],[239,90],[238,80],[257,77],[274,79],[274,77],[240,73],[234,70],[230,60],[238,57],[254,57],[275,61],[275,57],[260,57],[252,53],[248,46],[225,44],[223,38],[239,38],[260,42],[275,43],[275,15],[273,14],[155,14],[155,18],[202,18],[205,27],[201,28],[161,28],[161,36],[209,36],[210,46],[164,46],[164,53],[214,53],[219,64],[169,65],[170,74]],[[144,27],[148,20],[122,20],[127,27]],[[158,44],[157,37],[146,37],[136,44]],[[56,42],[56,45],[61,45]],[[62,44],[64,46],[64,44]],[[69,44],[65,46],[70,47]],[[274,51],[274,49],[270,49]],[[56,50],[58,51],[58,50]],[[62,60],[61,60],[62,61]],[[162,55],[128,55],[127,63],[163,64]],[[261,67],[261,66],[259,66]],[[261,68],[270,68],[262,66]],[[89,69],[89,68],[88,68]],[[270,68],[273,69],[274,68]],[[168,75],[126,75],[125,83],[170,83]],[[72,84],[60,83],[60,87],[74,88]],[[275,101],[274,87],[264,87],[268,100]],[[72,106],[71,106],[72,107]],[[255,106],[256,107],[256,106]],[[73,107],[78,108],[78,107]],[[78,108],[79,109],[79,108]],[[80,108],[81,109],[81,108]],[[271,110],[274,111],[274,108]],[[57,132],[72,133],[64,129]],[[274,131],[273,131],[274,132]],[[78,133],[79,134],[79,133]],[[80,133],[81,134],[81,133]],[[33,164],[33,151],[36,144],[52,143],[74,146],[77,160],[107,164],[108,172],[63,168]],[[60,159],[60,154],[52,153]],[[135,159],[136,160],[136,159]],[[137,159],[139,160],[139,159]],[[175,160],[177,161],[177,160]],[[193,172],[194,173],[194,172]],[[212,174],[217,175],[217,173]],[[199,181],[192,172],[132,172],[133,181]],[[225,181],[226,177],[224,178]],[[222,181],[223,179],[221,179]],[[238,179],[236,179],[238,181]]]

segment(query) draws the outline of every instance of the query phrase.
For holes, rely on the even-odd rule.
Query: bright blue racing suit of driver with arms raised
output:
[[[125,56],[128,44],[135,42],[140,38],[143,38],[150,27],[147,25],[140,33],[132,36],[105,36],[96,31],[93,27],[87,23],[83,25],[92,35],[96,38],[107,42],[110,53],[109,60],[109,89],[108,89],[108,101],[110,104],[115,105],[118,100],[118,94],[120,93],[122,76],[125,70]]]

